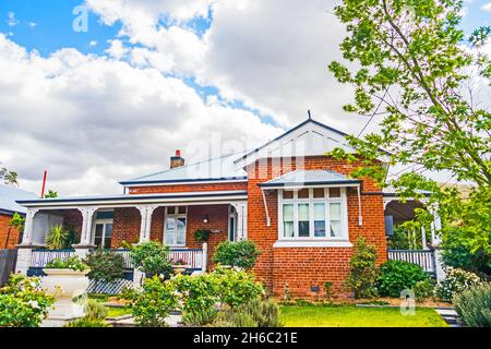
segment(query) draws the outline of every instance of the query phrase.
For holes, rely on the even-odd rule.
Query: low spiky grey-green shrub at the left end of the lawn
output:
[[[217,316],[217,327],[283,327],[279,306],[274,300],[251,300]]]

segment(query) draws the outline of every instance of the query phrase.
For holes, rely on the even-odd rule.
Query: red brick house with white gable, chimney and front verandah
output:
[[[384,209],[394,197],[370,179],[350,178],[360,164],[325,155],[337,147],[354,152],[345,133],[309,118],[252,152],[187,165],[178,151],[169,169],[120,182],[120,195],[22,201],[17,270],[41,263],[41,214],[76,229],[74,253],[155,240],[206,270],[219,242],[248,239],[262,253],[254,273],[276,297],[322,294],[326,281],[343,293],[359,237],[376,246],[379,264],[386,260]],[[197,229],[211,231],[207,243],[195,240]]]

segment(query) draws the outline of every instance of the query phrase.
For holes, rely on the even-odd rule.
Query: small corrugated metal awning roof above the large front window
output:
[[[264,182],[260,186],[275,188],[301,184],[348,184],[359,182],[359,180],[350,179],[343,173],[332,170],[295,170]]]

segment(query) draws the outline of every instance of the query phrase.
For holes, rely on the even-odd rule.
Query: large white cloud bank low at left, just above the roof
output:
[[[118,180],[168,167],[176,148],[192,161],[207,156],[200,142],[249,147],[280,132],[155,69],[74,49],[43,58],[0,35],[0,161],[36,192],[45,168],[61,194],[119,193]]]

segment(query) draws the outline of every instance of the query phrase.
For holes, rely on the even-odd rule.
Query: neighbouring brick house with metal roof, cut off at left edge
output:
[[[34,197],[36,197],[34,193],[0,184],[0,250],[14,249],[20,243],[21,232],[11,227],[10,221],[14,214],[24,217],[27,212],[16,201]]]

